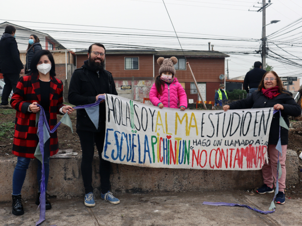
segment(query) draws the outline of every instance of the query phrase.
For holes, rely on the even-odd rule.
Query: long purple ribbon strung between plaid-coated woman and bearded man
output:
[[[88,108],[88,107],[94,107],[100,104],[101,100],[105,100],[105,95],[99,96],[98,100],[95,103],[91,103],[91,104],[86,104],[86,105],[80,105],[80,106],[75,106],[73,107],[74,109],[83,109],[83,108]],[[44,134],[43,134],[43,123],[45,124],[48,133],[52,134],[56,131],[56,129],[60,126],[61,122],[58,122],[57,125],[55,125],[55,127],[50,130],[48,123],[47,123],[47,119],[45,116],[45,111],[43,109],[43,107],[39,104],[37,104],[37,106],[40,107],[40,117],[39,117],[39,121],[38,121],[38,137],[39,137],[39,143],[40,143],[40,152],[42,155],[42,176],[41,176],[41,185],[40,185],[40,205],[38,206],[38,208],[40,207],[40,219],[36,222],[36,226],[40,226],[39,224],[42,223],[45,220],[45,196],[46,196],[46,192],[45,192],[45,171],[44,171]],[[52,225],[52,226],[56,226],[56,225]]]

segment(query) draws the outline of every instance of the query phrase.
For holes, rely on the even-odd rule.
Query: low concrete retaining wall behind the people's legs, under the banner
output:
[[[57,198],[84,196],[81,174],[81,156],[69,159],[51,158],[48,193]],[[37,161],[32,160],[22,188],[22,198],[33,198],[38,190],[36,181]],[[12,199],[12,179],[17,158],[0,158],[0,201]],[[100,195],[99,158],[93,161],[93,187]],[[223,171],[165,169],[111,164],[111,188],[113,192],[134,191],[206,191],[224,189],[251,189],[262,185],[260,170]],[[287,150],[286,184],[298,183],[298,156]]]

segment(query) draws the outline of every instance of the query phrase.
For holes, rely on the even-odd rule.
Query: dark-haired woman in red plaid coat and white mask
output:
[[[16,125],[13,144],[13,154],[18,156],[17,165],[13,175],[13,214],[24,214],[21,202],[21,189],[25,180],[26,170],[30,160],[34,157],[38,145],[36,112],[40,110],[39,104],[45,111],[50,130],[57,124],[57,114],[68,115],[74,110],[65,106],[63,102],[62,81],[55,78],[55,63],[48,50],[37,51],[30,64],[31,73],[21,77],[17,83],[16,91],[11,105],[16,109]],[[50,134],[50,139],[44,144],[44,170],[45,190],[49,175],[49,157],[58,152],[57,133]],[[42,164],[38,161],[37,179],[41,183]],[[36,204],[40,204],[40,194],[37,195]],[[46,200],[46,209],[51,204]]]

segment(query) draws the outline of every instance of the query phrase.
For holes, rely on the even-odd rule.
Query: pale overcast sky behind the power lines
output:
[[[269,54],[271,57],[289,59],[290,62],[287,62],[290,64],[302,65],[302,60],[298,59],[302,59],[299,34],[302,28],[298,28],[302,26],[302,20],[285,30],[287,25],[302,17],[302,1],[271,0],[271,3],[266,9],[266,24],[271,20],[280,22],[266,26],[266,35],[282,28],[283,33],[289,33],[276,38],[269,36],[272,38],[269,48],[273,51]],[[215,51],[231,56],[228,58],[231,59],[231,78],[245,75],[255,61],[261,61],[260,54],[256,54],[255,50],[260,48],[262,13],[249,12],[249,9],[259,9],[253,7],[261,6],[257,2],[165,0],[165,4],[176,32],[181,37],[182,48],[207,50],[208,42],[211,42]],[[35,3],[15,0],[1,5],[0,23],[8,21],[47,33],[68,49],[88,48],[93,42],[104,43],[109,48],[132,46],[180,49],[162,0],[53,0]],[[302,76],[301,66],[288,65],[284,58],[277,59],[282,62],[268,58],[267,63],[274,67],[279,76]]]

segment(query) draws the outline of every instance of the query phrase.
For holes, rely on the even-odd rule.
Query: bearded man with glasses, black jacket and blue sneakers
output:
[[[88,60],[84,65],[75,70],[71,76],[68,101],[74,105],[85,105],[96,102],[104,93],[117,95],[112,74],[104,69],[105,66],[104,45],[92,44],[88,50]],[[95,196],[92,187],[92,161],[94,146],[97,146],[100,157],[101,198],[112,204],[120,201],[109,191],[110,189],[110,162],[102,159],[106,129],[106,105],[102,101],[99,105],[98,128],[90,120],[85,109],[77,110],[77,133],[82,147],[81,171],[85,187],[84,204],[95,206]]]

